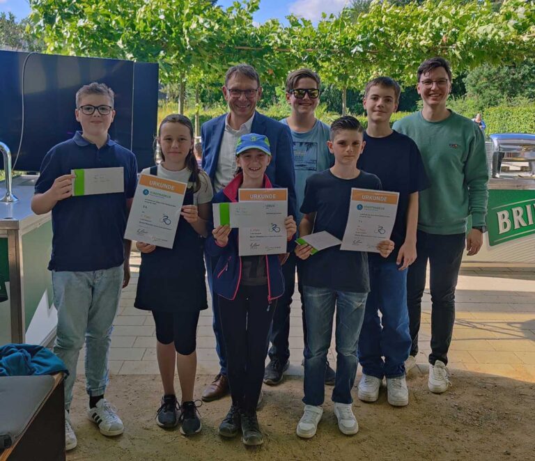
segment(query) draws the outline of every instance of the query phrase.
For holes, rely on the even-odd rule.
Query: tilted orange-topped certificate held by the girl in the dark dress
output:
[[[187,184],[141,175],[126,225],[125,239],[173,248]]]

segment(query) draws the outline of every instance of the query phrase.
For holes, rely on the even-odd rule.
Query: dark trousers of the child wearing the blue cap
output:
[[[267,285],[242,285],[233,301],[219,296],[218,304],[232,402],[246,412],[254,411],[277,301],[267,304]]]

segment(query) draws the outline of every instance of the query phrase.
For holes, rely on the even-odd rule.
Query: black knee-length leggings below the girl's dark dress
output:
[[[181,355],[195,352],[199,311],[196,312],[156,312],[156,339],[162,344],[175,343],[175,350]]]

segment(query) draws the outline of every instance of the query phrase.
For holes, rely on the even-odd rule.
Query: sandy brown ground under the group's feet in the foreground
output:
[[[535,384],[452,370],[453,386],[435,395],[427,376],[413,370],[408,378],[410,405],[394,408],[382,389],[377,403],[365,404],[354,393],[359,433],[341,435],[327,387],[325,412],[313,439],[295,435],[302,413],[302,380],[287,378],[277,387],[264,386],[265,406],[258,420],[265,433],[259,448],[245,448],[240,439],[222,440],[217,426],[229,398],[199,408],[201,434],[186,438],[178,430],[154,422],[160,402],[160,377],[113,376],[107,392],[125,422],[116,438],[100,435],[85,417],[86,396],[78,379],[71,419],[78,447],[68,460],[529,460],[535,450]],[[197,378],[200,393],[210,377]]]

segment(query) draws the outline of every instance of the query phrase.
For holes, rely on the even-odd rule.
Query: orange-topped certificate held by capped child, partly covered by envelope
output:
[[[240,256],[286,253],[286,227],[288,216],[288,189],[240,189],[240,202],[261,202],[263,207],[274,212],[274,219],[258,221],[251,227],[240,227],[238,231],[238,253]],[[269,205],[269,206],[267,206]]]

